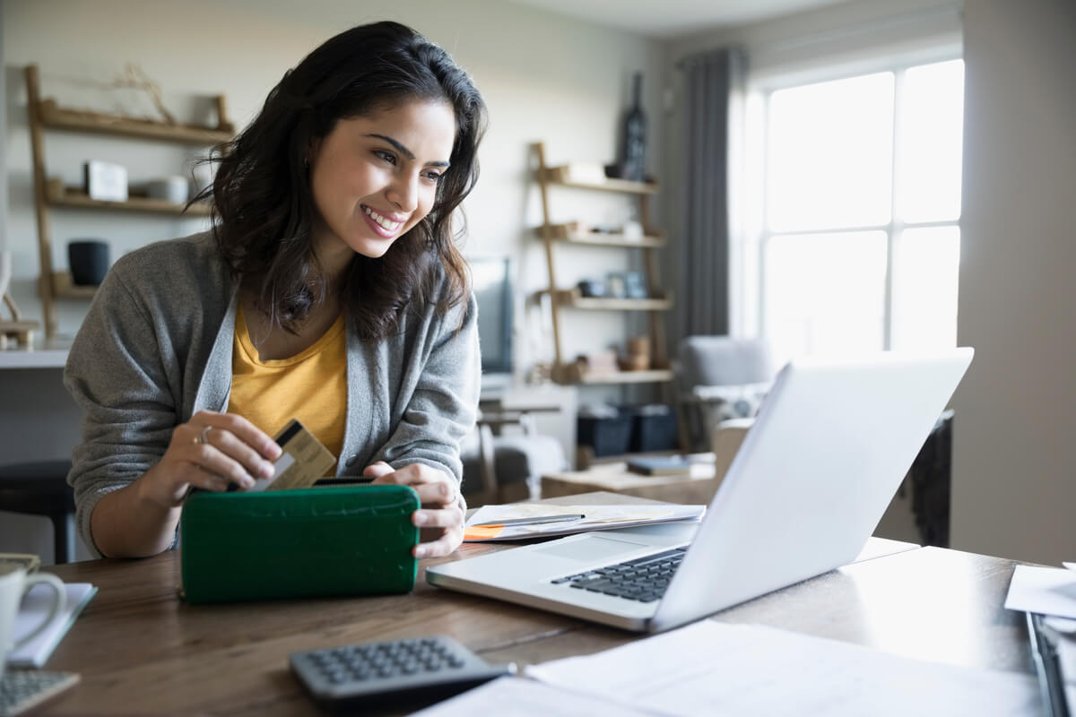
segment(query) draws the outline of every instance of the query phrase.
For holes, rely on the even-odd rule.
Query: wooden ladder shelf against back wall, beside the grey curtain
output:
[[[551,298],[553,342],[555,365],[553,379],[562,384],[577,385],[615,385],[615,384],[668,384],[672,381],[672,372],[668,368],[668,357],[665,349],[665,321],[663,312],[672,307],[672,298],[661,288],[659,282],[657,250],[665,246],[664,235],[653,228],[650,221],[648,198],[659,190],[656,183],[627,182],[625,180],[579,178],[572,176],[567,167],[549,167],[546,163],[546,148],[542,143],[533,145],[538,159],[538,183],[541,188],[542,226],[537,229],[538,235],[546,245],[546,259],[549,268],[549,288],[543,290]],[[622,233],[595,233],[582,231],[577,224],[555,224],[550,212],[550,186],[558,185],[576,189],[613,191],[628,196],[638,201],[639,217],[642,224],[642,236],[632,238]],[[647,283],[646,299],[626,298],[590,298],[583,297],[578,289],[561,288],[556,282],[554,267],[554,247],[562,245],[605,246],[613,249],[631,249],[642,253],[643,274]],[[649,334],[651,340],[651,368],[645,371],[617,371],[587,373],[579,367],[566,361],[562,313],[572,311],[641,311],[649,317]]]

